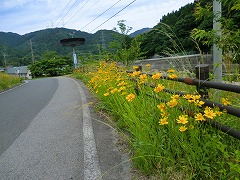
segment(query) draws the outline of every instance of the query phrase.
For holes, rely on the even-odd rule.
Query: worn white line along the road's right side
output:
[[[81,96],[83,111],[83,143],[84,143],[84,180],[95,180],[101,177],[101,170],[93,134],[91,115],[85,93],[79,83],[73,80]]]

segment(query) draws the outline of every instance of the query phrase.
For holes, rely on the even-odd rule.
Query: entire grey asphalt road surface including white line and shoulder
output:
[[[0,179],[131,179],[128,157],[92,100],[81,82],[66,77],[1,93]]]

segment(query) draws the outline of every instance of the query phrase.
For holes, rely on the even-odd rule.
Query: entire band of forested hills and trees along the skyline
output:
[[[118,24],[120,28],[123,28],[122,32],[100,30],[95,34],[89,34],[66,28],[45,29],[23,36],[0,32],[0,66],[3,66],[5,62],[7,65],[13,66],[28,65],[32,59],[30,40],[35,60],[40,59],[39,57],[45,51],[56,51],[61,55],[71,56],[71,48],[62,47],[59,41],[72,36],[86,39],[83,46],[76,48],[78,55],[103,53],[101,49],[103,48],[105,55],[108,56],[109,53],[112,53],[112,56],[108,56],[108,58],[120,61],[129,61],[134,53],[134,56],[140,59],[149,58],[155,54],[172,56],[199,52],[211,53],[214,41],[211,39],[214,37],[211,32],[213,26],[212,2],[212,0],[201,0],[187,4],[177,11],[164,15],[152,29],[136,31],[129,37],[126,36],[129,34],[126,32],[129,32],[128,30],[131,28],[126,29],[128,26],[124,26],[124,21],[119,21],[122,24]],[[240,46],[240,6],[238,5],[239,3],[234,0],[222,0],[223,38],[218,40],[223,51],[232,53],[231,56],[235,59],[240,59],[238,58],[240,57],[238,48]],[[195,38],[191,36],[193,29],[198,29],[195,31],[197,32]],[[120,40],[119,36],[124,37],[125,40]],[[119,46],[116,43],[122,43],[122,45]],[[124,54],[127,49],[129,49],[128,55]]]

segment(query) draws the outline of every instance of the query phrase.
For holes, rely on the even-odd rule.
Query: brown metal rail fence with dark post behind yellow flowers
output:
[[[141,68],[139,70],[141,70]],[[209,88],[240,93],[240,86],[209,81],[208,65],[202,64],[202,65],[196,66],[195,70],[196,70],[196,78],[195,79],[194,78],[183,78],[183,77],[171,79],[166,75],[162,75],[161,78],[171,80],[171,81],[182,82],[187,85],[194,85],[194,86],[196,86],[198,93],[202,96],[202,98],[200,98],[200,100],[202,100],[205,103],[204,106],[209,106],[209,107],[218,106],[221,111],[226,110],[228,114],[234,115],[236,117],[240,117],[240,109],[230,107],[230,106],[225,106],[223,104],[207,100],[207,98],[209,98],[209,95],[208,95]],[[127,70],[126,72],[133,73],[134,71]],[[146,73],[146,72],[141,72],[141,74],[147,74],[148,76],[153,75],[152,73]],[[176,91],[172,91],[169,89],[164,89],[164,91],[166,91],[168,93],[172,93],[172,94],[179,94],[179,95],[188,94],[185,92],[176,92]],[[228,135],[240,140],[240,132],[239,131],[237,131],[231,127],[228,127],[224,124],[221,124],[217,121],[214,121],[214,120],[207,120],[206,122],[209,125],[211,125],[212,127],[216,128],[218,130],[221,130],[222,132],[227,133]]]

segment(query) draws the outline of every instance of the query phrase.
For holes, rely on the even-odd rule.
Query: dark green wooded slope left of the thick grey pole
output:
[[[163,16],[152,31],[141,37],[142,51],[146,52],[146,56],[154,54],[168,56],[174,53],[196,52],[194,42],[190,37],[191,31],[199,27],[202,22],[197,22],[194,17],[195,3],[188,4],[178,11],[168,13]],[[206,23],[212,27],[212,20]],[[210,49],[203,47],[204,51]]]

